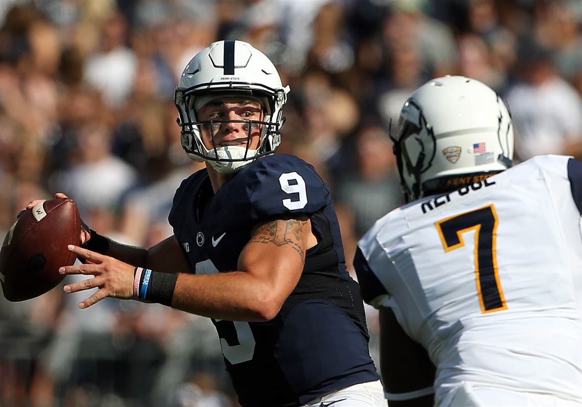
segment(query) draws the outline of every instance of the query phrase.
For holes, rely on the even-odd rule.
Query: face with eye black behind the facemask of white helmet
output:
[[[236,145],[257,149],[261,125],[248,120],[263,120],[261,103],[244,97],[225,97],[215,99],[198,109],[197,119],[200,122],[212,120],[212,123],[200,124],[200,133],[207,149]],[[228,120],[241,120],[229,122]],[[214,137],[214,143],[212,138]]]

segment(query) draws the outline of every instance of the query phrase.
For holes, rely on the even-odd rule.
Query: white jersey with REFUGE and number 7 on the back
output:
[[[364,300],[427,349],[437,405],[467,385],[582,404],[581,212],[580,163],[537,156],[360,240]]]

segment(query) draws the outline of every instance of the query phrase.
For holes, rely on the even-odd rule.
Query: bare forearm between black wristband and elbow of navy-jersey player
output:
[[[264,322],[283,301],[276,290],[247,272],[179,274],[172,308],[215,319]]]

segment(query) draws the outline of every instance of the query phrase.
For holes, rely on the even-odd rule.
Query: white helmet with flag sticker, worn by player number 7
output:
[[[404,103],[394,153],[407,202],[512,165],[513,124],[501,97],[463,76],[435,78]]]

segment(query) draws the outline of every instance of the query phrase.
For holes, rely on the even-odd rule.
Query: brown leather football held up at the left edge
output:
[[[59,267],[73,265],[67,245],[79,245],[81,218],[70,198],[44,201],[25,210],[0,250],[0,283],[8,301],[24,301],[54,288],[65,277]]]

